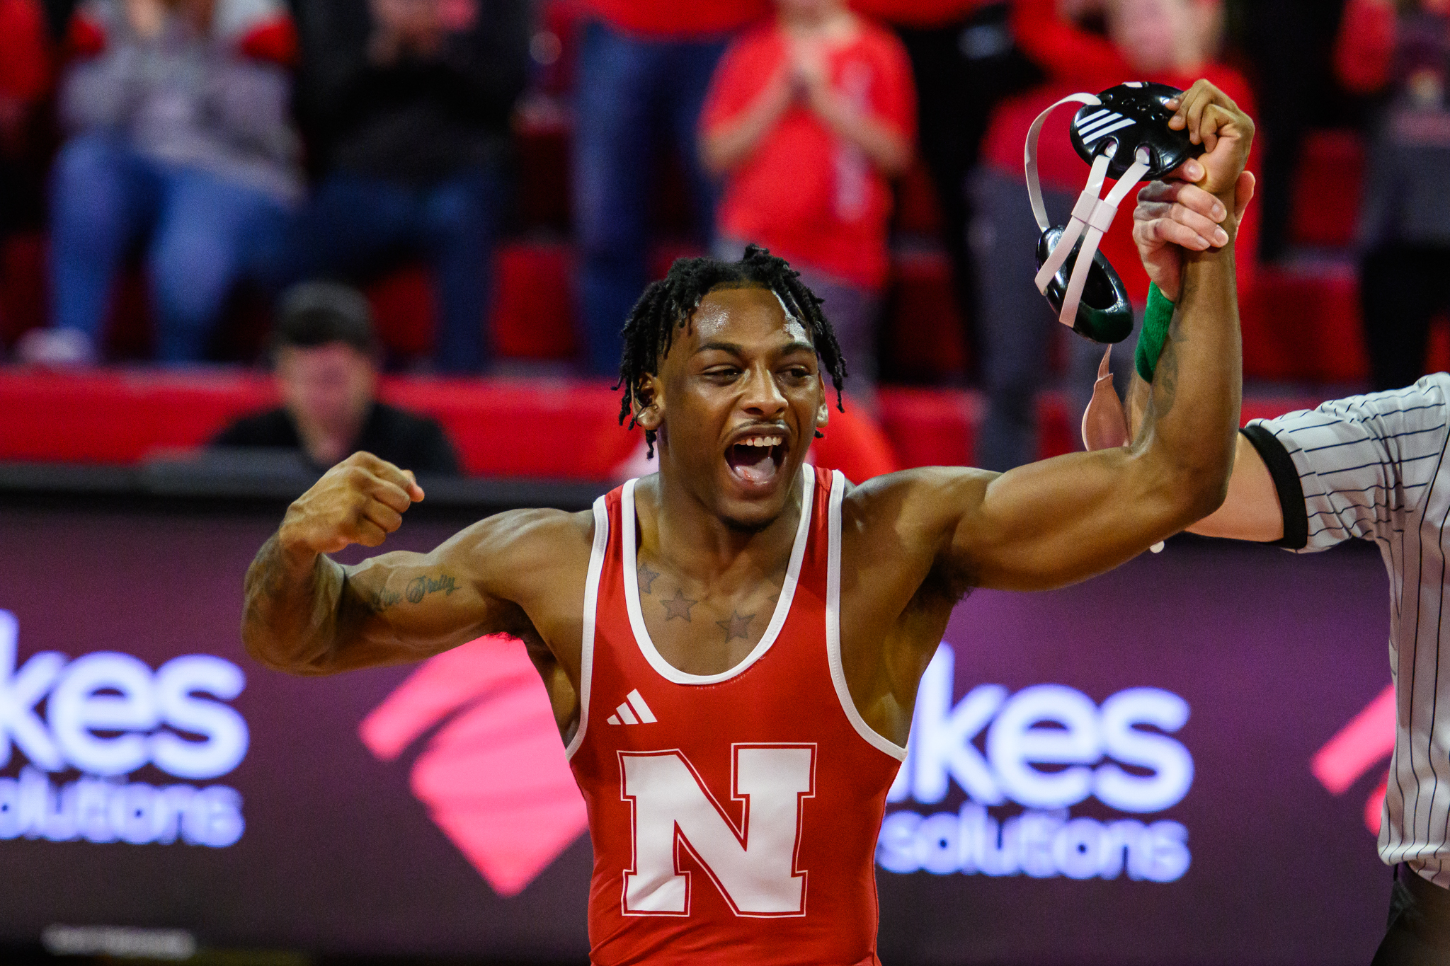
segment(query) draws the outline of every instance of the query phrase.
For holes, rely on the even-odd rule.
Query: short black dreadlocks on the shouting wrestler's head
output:
[[[831,374],[835,387],[835,407],[845,411],[841,390],[845,385],[845,356],[835,340],[835,330],[821,311],[821,297],[800,281],[800,272],[790,268],[783,258],[776,258],[758,245],[745,246],[745,255],[738,262],[722,262],[716,258],[677,258],[670,274],[657,282],[650,282],[635,303],[625,322],[625,352],[619,361],[619,382],[624,400],[619,404],[619,423],[629,420],[626,429],[634,429],[635,390],[647,377],[660,371],[674,340],[677,329],[683,329],[700,301],[716,288],[767,288],[780,298],[786,311],[811,332],[816,355]],[[816,432],[819,437],[821,433]],[[655,432],[645,430],[648,455],[654,456]]]

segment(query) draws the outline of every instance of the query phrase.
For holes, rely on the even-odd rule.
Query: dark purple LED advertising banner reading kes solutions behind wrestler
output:
[[[260,668],[241,581],[276,523],[0,510],[0,943],[583,962],[584,808],[522,647]],[[1188,540],[970,595],[877,847],[883,960],[1367,962],[1386,608],[1373,549]]]

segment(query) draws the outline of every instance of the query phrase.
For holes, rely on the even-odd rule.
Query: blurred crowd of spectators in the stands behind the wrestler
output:
[[[755,242],[825,297],[858,411],[970,387],[1006,469],[1098,356],[1031,284],[1027,129],[1198,77],[1260,123],[1247,375],[1450,364],[1447,0],[0,0],[0,358],[286,378],[341,345],[310,365],[360,400],[377,369],[609,377],[648,280]],[[1103,249],[1141,306],[1130,222]]]

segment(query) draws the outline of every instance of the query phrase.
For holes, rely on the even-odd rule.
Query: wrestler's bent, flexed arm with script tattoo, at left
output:
[[[422,498],[410,472],[370,453],[329,469],[287,508],[246,571],[248,653],[280,671],[332,673],[419,660],[496,631],[534,637],[526,587],[587,563],[589,514],[516,510],[431,553],[383,553],[357,566],[326,556],[381,545]]]

